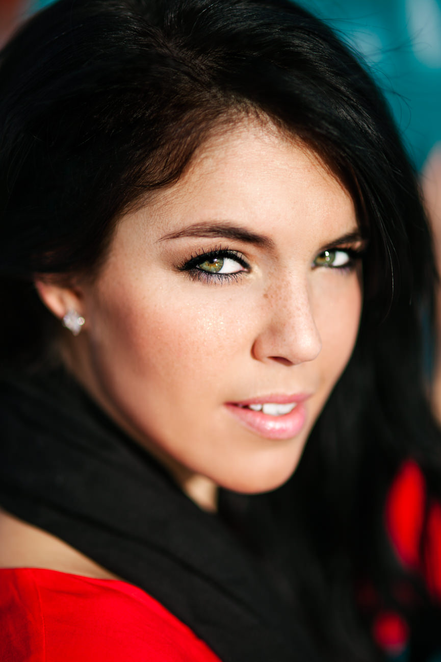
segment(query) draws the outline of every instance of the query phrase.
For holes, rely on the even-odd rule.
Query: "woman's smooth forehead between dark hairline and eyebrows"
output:
[[[348,191],[317,153],[270,122],[251,120],[213,132],[177,183],[158,191],[138,216],[158,236],[213,220],[330,239],[357,228]]]

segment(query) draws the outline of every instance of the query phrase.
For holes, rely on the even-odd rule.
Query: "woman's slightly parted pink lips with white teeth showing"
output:
[[[303,429],[307,412],[305,393],[268,395],[225,406],[242,425],[268,439],[290,439]]]

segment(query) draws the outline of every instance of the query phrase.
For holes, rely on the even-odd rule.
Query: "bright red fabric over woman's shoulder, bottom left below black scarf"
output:
[[[123,581],[0,570],[1,662],[220,662],[159,602]]]

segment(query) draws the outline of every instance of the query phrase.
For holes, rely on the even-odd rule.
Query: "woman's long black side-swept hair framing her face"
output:
[[[369,238],[356,349],[273,495],[287,572],[328,659],[368,659],[356,582],[397,610],[391,578],[417,582],[387,543],[387,488],[413,457],[439,492],[422,361],[434,263],[385,101],[328,26],[287,0],[60,0],[25,24],[0,56],[0,352],[47,361],[56,321],[35,275],[93,278],[121,215],[177,181],[209,132],[250,115],[319,154]]]

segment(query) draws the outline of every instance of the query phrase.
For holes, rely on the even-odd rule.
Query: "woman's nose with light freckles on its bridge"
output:
[[[322,341],[307,283],[267,292],[262,307],[264,323],[252,346],[255,359],[297,365],[317,358]]]

